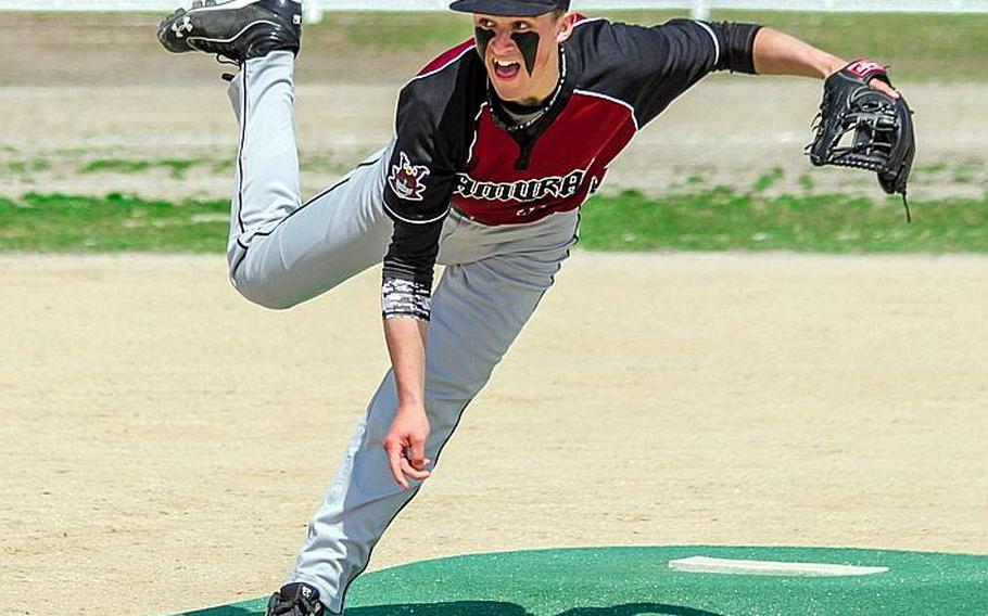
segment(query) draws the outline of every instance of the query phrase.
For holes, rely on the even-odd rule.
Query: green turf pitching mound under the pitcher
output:
[[[807,577],[695,573],[691,556],[887,567]],[[758,565],[752,565],[758,568]],[[187,616],[264,613],[258,599]],[[988,614],[988,556],[836,548],[583,548],[476,554],[375,572],[347,616],[974,616]]]

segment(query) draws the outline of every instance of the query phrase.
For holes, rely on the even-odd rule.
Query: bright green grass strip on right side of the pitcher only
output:
[[[719,188],[646,197],[628,191],[584,207],[591,251],[791,251],[805,253],[985,253],[988,195],[913,201],[843,194],[763,197]]]

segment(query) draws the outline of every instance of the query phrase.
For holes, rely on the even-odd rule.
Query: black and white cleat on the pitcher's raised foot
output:
[[[204,51],[243,63],[271,51],[299,53],[299,0],[195,0],[162,20],[157,40],[170,52]]]

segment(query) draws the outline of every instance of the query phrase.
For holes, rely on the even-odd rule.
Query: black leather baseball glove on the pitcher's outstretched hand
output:
[[[878,174],[888,194],[900,193],[905,204],[905,183],[916,142],[912,112],[898,99],[869,86],[881,79],[891,86],[885,67],[859,60],[827,77],[816,115],[813,142],[807,146],[816,166],[840,165]],[[909,220],[909,206],[905,207]]]

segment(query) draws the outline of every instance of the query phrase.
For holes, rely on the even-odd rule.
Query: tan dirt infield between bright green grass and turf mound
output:
[[[550,546],[988,551],[986,266],[578,254],[373,567]],[[377,280],[269,312],[218,256],[0,256],[3,613],[276,586],[387,365]]]

